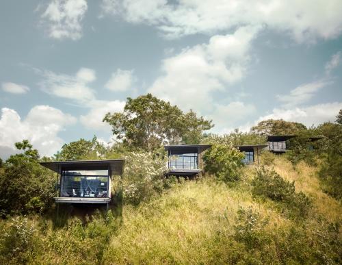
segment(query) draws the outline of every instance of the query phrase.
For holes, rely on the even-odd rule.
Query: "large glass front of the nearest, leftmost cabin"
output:
[[[101,171],[62,171],[61,197],[108,197],[109,175]]]

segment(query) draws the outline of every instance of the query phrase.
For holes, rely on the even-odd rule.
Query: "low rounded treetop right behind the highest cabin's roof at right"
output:
[[[302,123],[295,123],[293,121],[269,119],[261,121],[250,130],[261,135],[291,135],[297,134],[298,131],[306,130],[306,127]]]

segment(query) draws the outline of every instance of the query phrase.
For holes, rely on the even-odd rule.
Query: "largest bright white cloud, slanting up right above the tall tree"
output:
[[[163,75],[148,92],[183,110],[213,111],[213,92],[224,91],[244,77],[250,45],[258,30],[259,27],[241,27],[234,34],[213,36],[208,44],[166,58]]]

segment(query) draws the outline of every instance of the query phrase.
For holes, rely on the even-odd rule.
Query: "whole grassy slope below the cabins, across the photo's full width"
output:
[[[250,166],[233,186],[205,176],[124,205],[121,224],[100,215],[86,225],[74,218],[63,228],[38,216],[3,220],[0,263],[339,264],[341,203],[321,191],[316,168],[293,168],[283,157],[273,166],[311,198],[307,216],[293,218],[280,203],[254,197],[257,167]],[[20,244],[13,247],[11,236]]]

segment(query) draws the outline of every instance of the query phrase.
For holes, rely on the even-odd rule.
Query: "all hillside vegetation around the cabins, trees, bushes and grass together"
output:
[[[80,139],[52,157],[28,140],[0,160],[0,264],[341,264],[342,110],[306,128],[261,121],[248,133],[205,134],[211,121],[151,94],[104,121],[120,139]],[[281,156],[244,165],[237,145],[295,134]],[[312,142],[313,136],[321,136]],[[196,179],[165,177],[163,144],[211,144]],[[39,162],[124,158],[111,210],[60,205]]]

